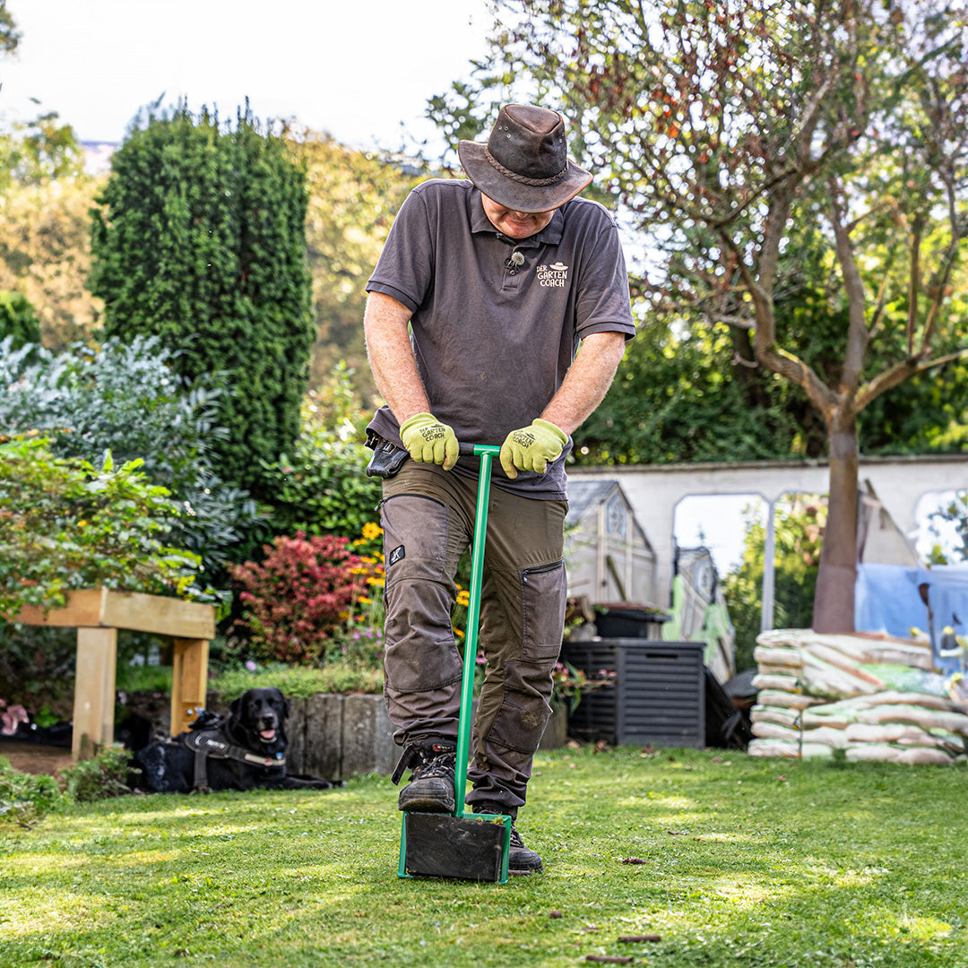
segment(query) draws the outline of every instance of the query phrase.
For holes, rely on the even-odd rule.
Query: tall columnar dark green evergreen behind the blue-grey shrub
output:
[[[183,107],[130,132],[97,200],[91,289],[106,334],[157,335],[190,380],[229,375],[217,470],[265,497],[261,462],[298,436],[313,342],[302,168],[248,110],[228,130]]]

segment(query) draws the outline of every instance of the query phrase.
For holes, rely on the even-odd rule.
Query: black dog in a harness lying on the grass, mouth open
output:
[[[250,689],[232,702],[227,716],[202,712],[191,732],[138,751],[134,765],[141,776],[135,785],[150,793],[342,786],[287,772],[288,713],[289,702],[279,689]]]

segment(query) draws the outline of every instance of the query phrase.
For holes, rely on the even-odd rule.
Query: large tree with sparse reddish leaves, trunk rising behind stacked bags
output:
[[[853,629],[860,415],[965,353],[963,309],[947,305],[968,233],[965,3],[502,6],[480,93],[527,77],[517,91],[564,106],[600,190],[648,233],[637,289],[651,309],[751,334],[755,361],[820,415],[831,479],[813,625]],[[472,119],[460,99],[474,96],[432,110]],[[812,364],[777,313],[803,287],[804,244],[841,320],[838,354]]]

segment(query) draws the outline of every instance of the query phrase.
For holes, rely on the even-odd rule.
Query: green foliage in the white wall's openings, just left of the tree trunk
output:
[[[752,510],[747,510],[745,517],[742,560],[723,578],[723,592],[736,629],[738,671],[756,666],[753,649],[760,634],[766,546],[765,526]],[[817,495],[793,495],[775,506],[775,628],[810,627],[826,523],[826,500]]]

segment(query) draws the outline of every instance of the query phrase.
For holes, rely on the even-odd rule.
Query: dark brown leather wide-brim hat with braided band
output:
[[[546,107],[501,107],[487,144],[461,141],[457,154],[470,181],[515,212],[558,208],[591,181],[568,158],[564,119]]]

